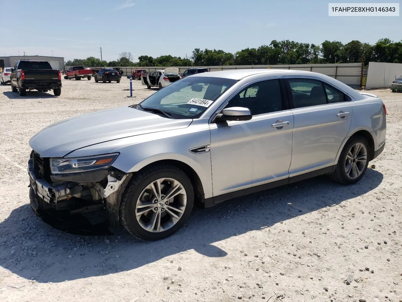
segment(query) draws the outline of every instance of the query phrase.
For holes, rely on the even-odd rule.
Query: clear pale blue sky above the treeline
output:
[[[5,18],[9,25],[0,23],[0,56],[16,56],[18,51],[51,56],[53,51],[53,56],[66,61],[100,58],[102,46],[103,59],[109,61],[123,51],[135,58],[184,57],[191,56],[194,48],[236,52],[269,45],[274,39],[315,44],[326,39],[401,40],[402,14],[328,17],[328,2],[336,1],[0,0],[2,19],[9,16]]]

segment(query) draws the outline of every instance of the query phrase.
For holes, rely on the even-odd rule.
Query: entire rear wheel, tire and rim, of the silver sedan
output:
[[[369,164],[369,144],[356,135],[347,141],[330,178],[341,184],[355,184],[364,176]]]

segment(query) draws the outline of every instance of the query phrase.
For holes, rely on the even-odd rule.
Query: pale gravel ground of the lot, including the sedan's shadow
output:
[[[133,81],[63,80],[62,95],[0,86],[0,301],[402,301],[402,94],[387,145],[353,186],[325,177],[193,215],[170,238],[77,236],[29,206],[29,139],[70,116],[137,103]],[[61,134],[62,135],[62,134]]]

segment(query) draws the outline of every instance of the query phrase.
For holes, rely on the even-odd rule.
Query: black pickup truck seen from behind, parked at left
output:
[[[27,90],[47,92],[53,90],[54,95],[62,94],[62,76],[59,70],[52,69],[49,62],[20,60],[11,72],[12,92],[27,95]]]

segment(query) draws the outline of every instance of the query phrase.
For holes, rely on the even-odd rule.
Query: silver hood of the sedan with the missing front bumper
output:
[[[192,120],[174,120],[130,107],[83,114],[44,128],[29,141],[41,157],[63,157],[90,145],[140,134],[186,128]]]

